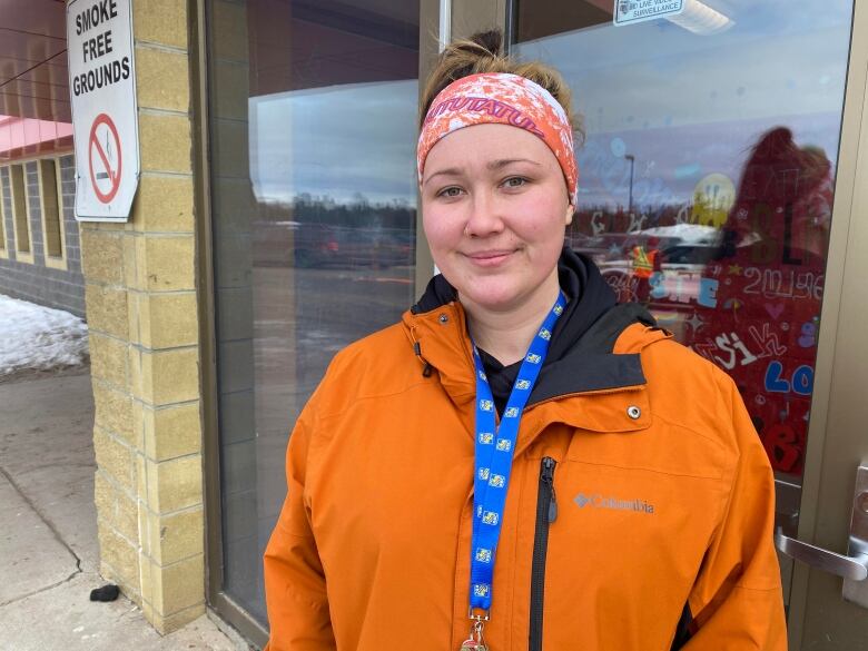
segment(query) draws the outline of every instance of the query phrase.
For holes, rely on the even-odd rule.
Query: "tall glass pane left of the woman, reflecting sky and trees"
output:
[[[209,0],[223,589],[266,622],[286,443],[412,304],[418,6]]]

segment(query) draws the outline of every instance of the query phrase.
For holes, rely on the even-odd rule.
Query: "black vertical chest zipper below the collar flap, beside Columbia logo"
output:
[[[540,490],[536,494],[536,530],[533,536],[531,569],[530,651],[542,651],[543,602],[545,592],[545,556],[549,553],[549,526],[558,519],[554,496],[554,466],[558,462],[544,456],[540,463]]]

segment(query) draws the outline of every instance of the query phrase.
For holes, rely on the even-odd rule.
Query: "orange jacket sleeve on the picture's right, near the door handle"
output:
[[[682,649],[786,651],[771,465],[734,383],[722,373],[719,382],[739,456],[722,520],[690,592],[693,634]]]

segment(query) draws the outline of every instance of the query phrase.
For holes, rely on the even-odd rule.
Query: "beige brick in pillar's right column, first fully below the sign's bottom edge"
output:
[[[148,292],[196,289],[193,236],[138,236],[137,287]]]

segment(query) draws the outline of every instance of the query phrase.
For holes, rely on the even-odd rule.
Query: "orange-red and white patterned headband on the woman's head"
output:
[[[507,72],[463,77],[434,98],[418,136],[418,183],[422,183],[425,159],[441,138],[484,124],[511,125],[542,138],[563,170],[570,200],[575,206],[579,168],[566,112],[542,86]]]

